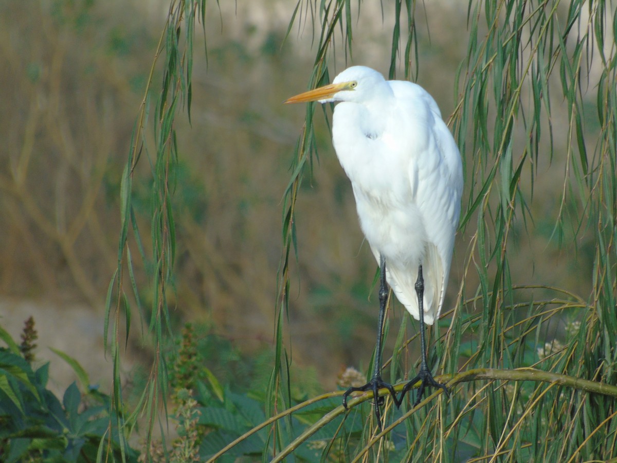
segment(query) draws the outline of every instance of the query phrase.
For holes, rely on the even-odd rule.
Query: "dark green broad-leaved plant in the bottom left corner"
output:
[[[38,369],[31,366],[33,325],[30,317],[22,335],[30,339],[30,348],[23,356],[0,348],[0,459],[96,461],[99,444],[106,435],[110,435],[109,453],[114,459],[121,459],[118,429],[109,428],[109,396],[89,385],[82,394],[77,384],[72,383],[59,401],[46,387],[49,363]],[[72,366],[78,365],[70,360]],[[136,451],[125,449],[126,461],[136,461],[136,457]]]

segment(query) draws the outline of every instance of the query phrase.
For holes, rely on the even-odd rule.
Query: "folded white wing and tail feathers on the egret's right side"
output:
[[[424,321],[439,317],[450,273],[454,235],[460,215],[463,188],[462,164],[456,143],[441,119],[436,102],[420,86],[389,82],[395,93],[400,124],[409,134],[402,146],[408,156],[410,203],[425,235],[421,256],[424,279]],[[387,265],[388,283],[416,319],[418,301],[416,262]]]

